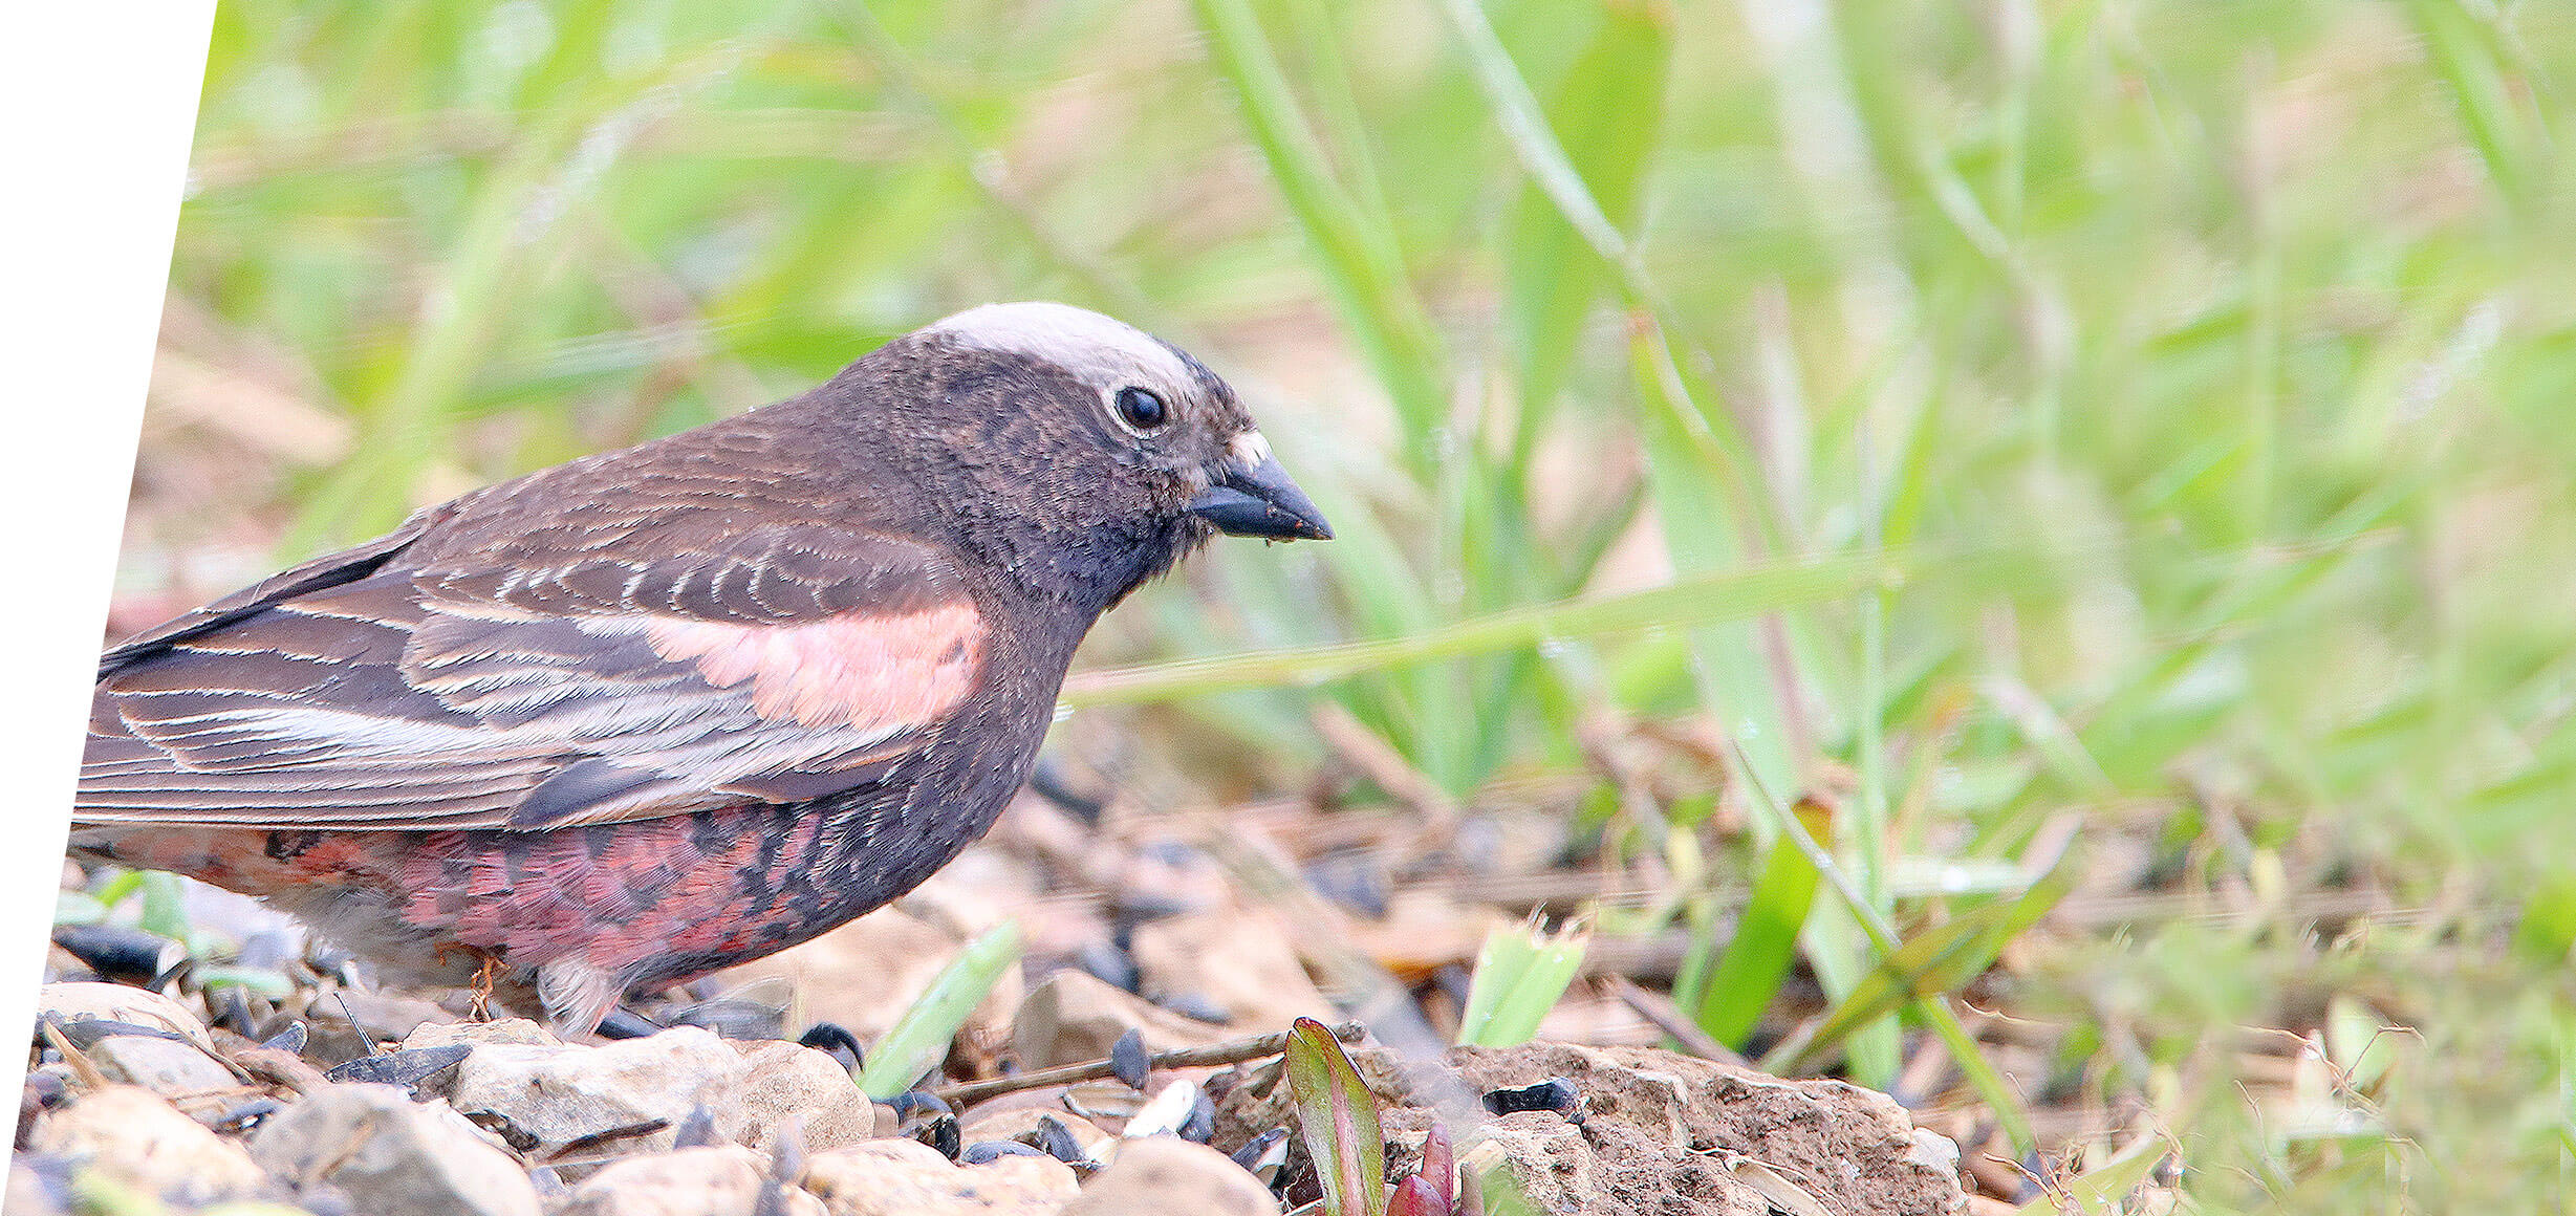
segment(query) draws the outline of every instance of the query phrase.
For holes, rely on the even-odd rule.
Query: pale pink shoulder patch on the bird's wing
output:
[[[696,660],[716,688],[750,680],[765,719],[871,732],[956,708],[984,660],[984,618],[958,600],[804,626],[654,618],[644,636],[665,660]]]

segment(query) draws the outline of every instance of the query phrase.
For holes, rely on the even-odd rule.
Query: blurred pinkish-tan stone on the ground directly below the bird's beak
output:
[[[1136,925],[1136,969],[1146,994],[1203,997],[1236,1025],[1334,1018],[1270,909],[1226,907]]]

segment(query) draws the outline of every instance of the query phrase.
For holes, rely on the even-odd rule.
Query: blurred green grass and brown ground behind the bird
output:
[[[1540,912],[1543,1033],[1893,1090],[1996,1201],[2527,1201],[2571,75],[2517,0],[224,0],[113,629],[1097,307],[1340,538],[1136,595],[1051,755],[1275,840],[1324,994],[1445,1033]]]

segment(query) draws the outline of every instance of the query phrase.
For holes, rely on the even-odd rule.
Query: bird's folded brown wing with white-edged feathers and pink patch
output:
[[[402,536],[113,649],[77,819],[538,830],[801,801],[881,778],[979,688],[984,621],[920,544],[793,523],[523,567],[410,564]]]

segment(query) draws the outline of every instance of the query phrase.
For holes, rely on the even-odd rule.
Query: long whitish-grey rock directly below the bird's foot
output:
[[[531,1162],[574,1144],[582,1154],[665,1152],[701,1105],[721,1139],[742,1144],[744,1072],[739,1051],[696,1025],[603,1046],[489,1043],[456,1069],[451,1103],[507,1126]]]

